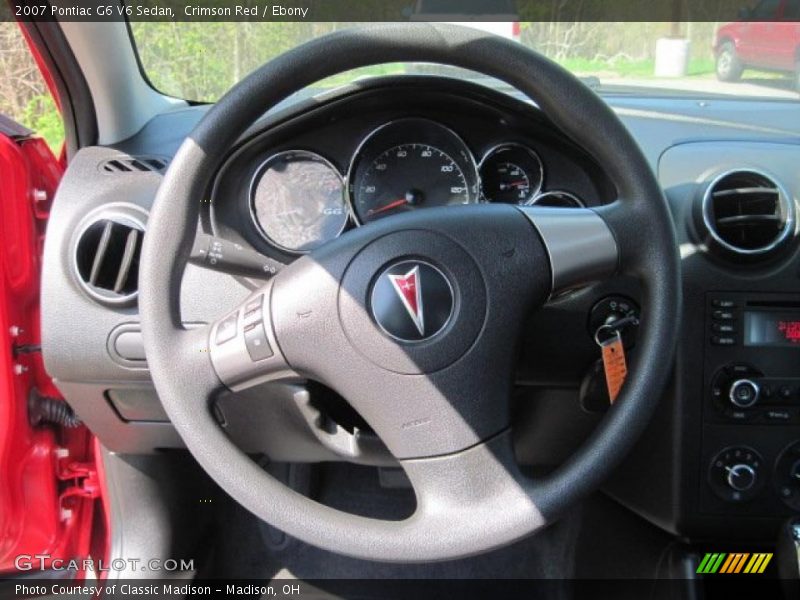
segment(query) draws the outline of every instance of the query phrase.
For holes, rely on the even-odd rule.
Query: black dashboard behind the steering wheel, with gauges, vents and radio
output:
[[[675,374],[607,492],[687,538],[771,540],[800,506],[800,108],[607,101],[658,174],[683,279]],[[82,280],[81,253],[108,222],[112,233],[146,232],[163,168],[206,110],[167,112],[129,140],[82,149],[54,200],[44,358],[65,398],[114,451],[151,453],[182,441],[137,346],[135,290],[98,293]],[[495,84],[439,77],[374,79],[293,98],[255,123],[208,179],[198,233],[279,266],[402,211],[480,202],[598,207],[616,197],[603,165],[534,104]],[[187,265],[187,326],[219,317],[263,283],[207,266]],[[593,333],[615,311],[647,318],[640,292],[616,277],[530,316],[513,399],[515,450],[526,468],[559,464],[603,418]],[[628,338],[635,360],[635,331]],[[313,383],[253,388],[214,410],[244,450],[276,461],[341,460],[321,443],[320,423],[368,433],[346,402]]]

